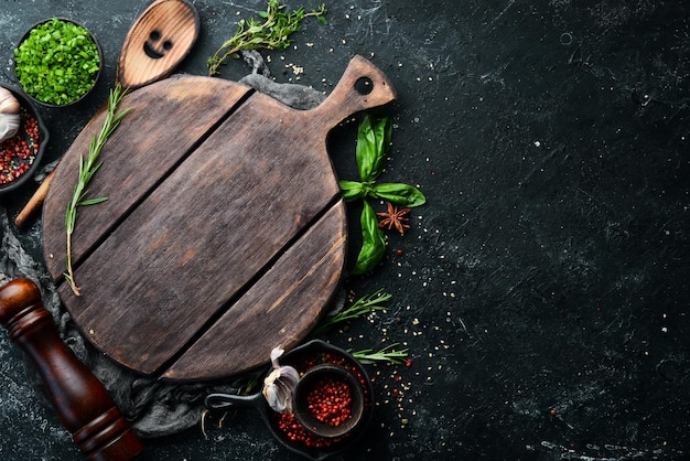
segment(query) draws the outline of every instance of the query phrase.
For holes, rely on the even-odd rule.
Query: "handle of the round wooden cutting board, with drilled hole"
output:
[[[312,110],[312,128],[326,131],[362,110],[396,100],[396,90],[388,77],[370,61],[355,55],[333,92]]]

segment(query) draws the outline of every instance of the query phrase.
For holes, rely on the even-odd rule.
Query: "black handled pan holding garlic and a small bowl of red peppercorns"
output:
[[[254,407],[280,443],[313,461],[355,447],[366,433],[374,409],[371,379],[362,364],[321,340],[282,353],[271,353],[271,369],[261,392],[211,394],[206,408]],[[344,401],[332,390],[346,390],[351,396]]]

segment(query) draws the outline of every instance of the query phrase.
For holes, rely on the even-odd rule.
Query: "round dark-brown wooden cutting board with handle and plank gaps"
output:
[[[355,56],[312,110],[238,83],[180,76],[127,95],[73,234],[65,210],[105,112],[61,161],[44,203],[43,245],[83,333],[120,364],[176,380],[234,375],[291,349],[316,324],[343,274],[346,215],[326,152],[344,118],[395,99]]]

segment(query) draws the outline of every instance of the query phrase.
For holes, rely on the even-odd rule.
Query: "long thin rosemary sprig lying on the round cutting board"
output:
[[[108,200],[107,197],[86,199],[86,194],[88,193],[86,187],[103,163],[97,161],[103,147],[106,144],[106,141],[116,130],[118,125],[120,125],[122,117],[125,117],[125,115],[130,110],[128,108],[121,110],[119,114],[116,114],[117,107],[126,94],[127,89],[123,89],[119,84],[110,90],[106,119],[100,127],[100,131],[91,138],[86,160],[84,160],[83,156],[79,156],[79,178],[74,186],[72,201],[67,205],[67,211],[65,213],[65,228],[67,230],[67,272],[65,272],[65,279],[76,296],[82,294],[79,288],[74,281],[74,269],[72,267],[72,234],[74,233],[74,227],[77,221],[77,207],[95,205]]]

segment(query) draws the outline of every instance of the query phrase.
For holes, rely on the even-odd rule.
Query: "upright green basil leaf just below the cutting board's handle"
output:
[[[357,167],[363,182],[371,182],[384,171],[392,137],[390,117],[365,114],[357,131]]]

